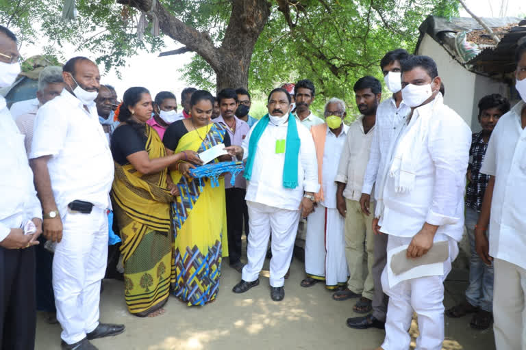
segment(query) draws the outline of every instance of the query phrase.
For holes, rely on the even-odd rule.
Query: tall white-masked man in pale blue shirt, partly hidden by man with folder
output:
[[[371,215],[369,211],[369,203],[371,202],[373,188],[375,189],[373,198],[375,200],[379,199],[379,191],[383,188],[379,181],[377,181],[381,175],[377,175],[383,174],[384,172],[390,144],[397,137],[401,129],[401,123],[405,120],[405,116],[408,116],[411,111],[410,107],[403,103],[401,93],[400,62],[408,56],[408,51],[405,51],[404,49],[396,49],[386,53],[380,61],[380,68],[384,74],[384,81],[388,89],[392,92],[392,98],[388,98],[380,103],[376,111],[371,153],[369,154],[364,185],[362,187],[362,196],[360,198],[362,212],[366,215]],[[375,183],[376,186],[373,187]],[[378,218],[375,217],[373,222],[377,219]],[[384,271],[384,267],[386,266],[387,236],[385,234],[375,234],[373,241],[374,261],[373,267],[371,268],[374,282],[374,295],[372,302],[373,312],[365,317],[353,317],[347,319],[347,325],[352,328],[367,329],[369,327],[376,327],[384,329],[384,323],[386,322],[388,298],[381,288],[381,272]]]

